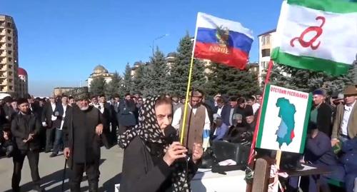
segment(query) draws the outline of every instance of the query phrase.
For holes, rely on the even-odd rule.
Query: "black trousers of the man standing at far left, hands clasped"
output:
[[[12,183],[11,187],[13,191],[19,191],[19,184],[21,181],[21,170],[24,165],[25,157],[29,160],[29,165],[31,169],[31,177],[35,186],[40,185],[39,176],[39,151],[14,151],[14,157],[12,161],[14,162],[14,172],[12,173]]]

